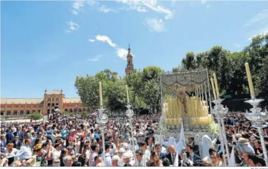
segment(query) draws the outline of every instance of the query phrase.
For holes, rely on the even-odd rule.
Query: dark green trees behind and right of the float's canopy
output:
[[[268,90],[268,34],[258,35],[242,52],[231,53],[222,46],[213,46],[209,51],[194,54],[188,52],[182,59],[182,68],[207,68],[209,76],[216,73],[220,94],[238,96],[249,94],[245,63],[250,64],[254,88],[257,95],[267,98]],[[173,72],[180,68],[174,67]]]

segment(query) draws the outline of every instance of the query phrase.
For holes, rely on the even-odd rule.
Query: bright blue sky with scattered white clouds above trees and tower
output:
[[[171,70],[213,45],[241,51],[267,20],[267,1],[1,1],[1,97],[77,97],[76,76],[125,74],[128,43],[135,68]]]

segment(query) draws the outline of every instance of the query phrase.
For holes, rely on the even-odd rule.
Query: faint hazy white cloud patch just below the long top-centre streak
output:
[[[151,32],[167,31],[162,19],[146,19],[146,22],[143,22],[143,25],[145,25]]]

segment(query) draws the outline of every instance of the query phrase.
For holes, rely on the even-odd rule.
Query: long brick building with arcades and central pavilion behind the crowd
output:
[[[80,98],[65,98],[63,90],[53,90],[50,93],[45,90],[44,98],[1,98],[1,115],[28,115],[33,112],[47,115],[53,112],[56,105],[62,112],[94,111],[91,108],[83,107]]]

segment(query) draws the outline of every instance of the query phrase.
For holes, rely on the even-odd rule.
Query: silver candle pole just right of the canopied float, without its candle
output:
[[[226,155],[228,156],[228,158],[230,158],[230,156],[229,156],[228,142],[226,139],[226,133],[224,130],[223,119],[226,113],[228,113],[229,109],[227,107],[225,108],[223,107],[223,105],[221,104],[222,101],[223,99],[220,99],[220,98],[217,98],[213,101],[215,106],[212,109],[212,113],[216,116],[218,120],[219,129],[220,129],[220,139],[221,139],[220,144],[222,148],[222,156],[223,156],[224,165],[227,166],[226,159],[225,159],[225,150],[226,150]],[[225,145],[225,150],[224,150],[224,145]]]

